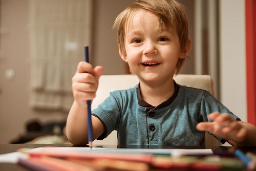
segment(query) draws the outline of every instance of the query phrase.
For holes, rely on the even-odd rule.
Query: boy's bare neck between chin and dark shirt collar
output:
[[[157,84],[151,84],[140,80],[140,91],[143,100],[153,106],[157,106],[174,94],[174,81],[173,79],[168,79]]]

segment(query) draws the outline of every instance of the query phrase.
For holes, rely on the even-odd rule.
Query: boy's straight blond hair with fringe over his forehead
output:
[[[159,31],[161,31],[163,26],[166,29],[177,29],[181,50],[189,46],[187,17],[182,4],[174,0],[137,0],[117,16],[113,25],[113,28],[118,30],[118,46],[121,53],[126,54],[125,27],[127,22],[141,9],[156,14]],[[185,58],[178,60],[176,73],[180,71],[184,60]]]

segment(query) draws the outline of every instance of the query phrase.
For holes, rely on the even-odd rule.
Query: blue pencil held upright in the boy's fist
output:
[[[89,63],[89,47],[84,47],[85,61]],[[93,127],[92,127],[92,114],[91,114],[91,100],[87,100],[87,114],[88,114],[88,141],[89,146],[93,146]]]

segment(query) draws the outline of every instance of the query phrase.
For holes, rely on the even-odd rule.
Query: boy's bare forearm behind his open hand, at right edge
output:
[[[250,147],[255,147],[256,146],[256,126],[242,122],[240,121],[243,127],[246,129],[246,136],[243,141],[241,142],[235,142],[232,140],[228,140],[228,142],[233,145],[233,146],[250,146]]]

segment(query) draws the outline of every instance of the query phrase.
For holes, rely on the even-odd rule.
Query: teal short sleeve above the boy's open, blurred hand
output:
[[[201,99],[201,106],[200,106],[200,114],[199,114],[199,122],[212,122],[212,120],[209,120],[207,118],[207,115],[209,115],[212,112],[219,112],[219,113],[227,113],[231,118],[234,120],[241,120],[239,117],[234,115],[232,112],[230,112],[226,106],[224,106],[218,99],[216,99],[214,96],[212,96],[209,92],[204,92]],[[209,132],[209,134],[211,134]],[[212,134],[211,134],[212,135]],[[217,137],[213,135],[219,142],[225,143],[226,140]]]

